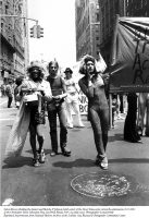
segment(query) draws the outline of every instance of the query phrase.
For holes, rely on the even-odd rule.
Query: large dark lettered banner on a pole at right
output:
[[[117,17],[110,93],[149,92],[149,17]]]

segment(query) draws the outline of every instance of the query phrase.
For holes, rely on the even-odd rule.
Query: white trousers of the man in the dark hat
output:
[[[73,125],[72,109],[74,110],[77,119],[77,125],[83,125],[79,107],[78,107],[78,96],[77,94],[69,94],[66,97],[66,116],[67,116],[67,125]]]

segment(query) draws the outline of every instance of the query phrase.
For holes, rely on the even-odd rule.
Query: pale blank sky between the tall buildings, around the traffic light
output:
[[[28,17],[44,27],[44,38],[29,37],[29,60],[55,58],[60,65],[72,66],[76,62],[75,0],[28,0]],[[28,21],[29,28],[35,24]]]

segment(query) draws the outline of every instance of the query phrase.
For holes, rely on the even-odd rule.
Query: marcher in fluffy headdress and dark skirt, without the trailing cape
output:
[[[26,107],[30,112],[29,121],[29,141],[33,149],[33,165],[38,167],[45,162],[44,152],[44,133],[41,125],[45,124],[45,100],[51,99],[50,84],[44,80],[42,66],[38,62],[32,62],[27,69],[28,80],[25,80],[21,87],[21,93],[24,96]],[[37,95],[37,101],[27,101],[28,94]],[[36,136],[39,144],[39,149],[36,146]]]

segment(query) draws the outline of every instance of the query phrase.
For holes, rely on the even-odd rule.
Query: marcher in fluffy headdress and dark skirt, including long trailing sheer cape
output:
[[[45,124],[45,100],[51,99],[51,88],[42,78],[42,66],[38,62],[32,62],[27,73],[28,78],[24,78],[20,87],[21,106],[7,143],[5,159],[21,155],[29,131],[33,166],[38,167],[45,162],[41,125]],[[36,146],[36,137],[39,149]]]

